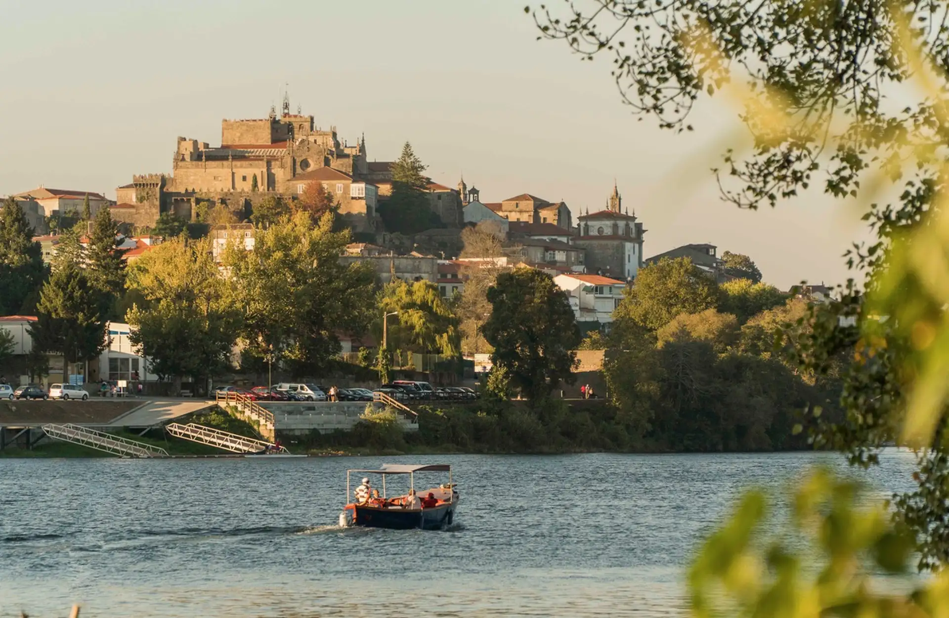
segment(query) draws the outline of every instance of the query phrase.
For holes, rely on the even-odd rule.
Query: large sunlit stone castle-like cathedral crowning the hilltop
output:
[[[153,225],[164,212],[195,220],[201,201],[232,210],[252,209],[268,195],[292,198],[307,184],[320,182],[333,193],[340,213],[357,231],[376,231],[378,200],[392,190],[391,162],[370,162],[365,136],[355,146],[341,142],[336,127],[315,126],[312,116],[291,114],[284,98],[282,114],[268,118],[221,120],[221,145],[178,137],[172,175],[142,174],[116,189],[116,219]],[[432,209],[450,226],[460,223],[460,199],[441,185],[429,186]]]

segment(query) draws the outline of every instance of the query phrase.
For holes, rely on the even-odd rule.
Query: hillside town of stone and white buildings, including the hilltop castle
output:
[[[89,252],[90,236],[98,225],[106,236],[110,230],[115,233],[114,245],[104,250],[121,261],[116,265],[120,270],[132,273],[135,264],[162,244],[188,239],[195,246],[208,244],[214,267],[232,286],[241,283],[235,251],[255,252],[261,235],[286,224],[297,212],[308,212],[316,226],[330,212],[334,232],[341,232],[334,236],[341,243],[336,252],[341,267],[363,267],[383,296],[386,286],[398,282],[410,288],[419,282],[431,285],[440,303],[433,307],[430,301],[428,311],[454,314],[456,326],[447,329],[450,335],[441,333],[447,338],[438,344],[433,343],[435,338],[424,342],[408,333],[400,335],[396,325],[395,347],[386,345],[387,353],[393,348],[393,369],[437,382],[470,381],[491,370],[491,346],[479,329],[490,313],[486,290],[501,272],[530,268],[549,275],[566,295],[580,333],[603,336],[610,332],[614,311],[627,290],[636,286],[638,273],[650,264],[687,260],[716,284],[761,279],[746,256],[719,255],[711,244],[681,245],[645,258],[647,230],[635,209],[623,204],[615,183],[611,191],[605,189],[602,200],[591,198],[601,206],[571,209],[562,200],[530,192],[482,201],[481,191],[463,178],[450,188],[437,182],[443,179],[426,176],[425,169],[410,144],[396,160],[371,159],[365,136],[350,146],[335,126],[323,129],[299,109],[291,113],[285,98],[279,115],[271,107],[267,118],[223,119],[219,146],[177,137],[171,173],[136,174],[132,182],[115,189],[115,199],[102,191],[39,187],[9,195],[6,203],[22,212],[25,225],[33,230],[32,242],[41,247],[44,268],[54,272],[58,260],[77,251]],[[526,189],[543,192],[543,188]],[[90,265],[88,258],[80,263]],[[751,264],[752,270],[741,270],[742,264]],[[486,274],[488,283],[482,281]],[[470,284],[477,289],[466,293]],[[25,297],[23,307],[8,303],[9,315],[0,317],[0,327],[9,333],[6,371],[14,376],[13,382],[130,381],[145,385],[147,391],[179,393],[180,386],[162,383],[180,385],[184,380],[191,382],[188,391],[210,389],[211,373],[202,376],[209,380],[207,385],[195,384],[195,375],[180,367],[169,371],[150,360],[154,354],[148,354],[148,345],[134,335],[136,326],[127,323],[134,300],[123,302],[128,292],[113,291],[123,306],[106,312],[104,340],[91,346],[95,354],[85,357],[58,354],[55,345],[41,348],[34,340],[36,312],[21,310],[36,302],[35,294]],[[809,286],[806,292],[809,298],[828,296],[824,286]],[[395,312],[401,308],[394,306]],[[335,348],[338,358],[370,365],[367,356],[375,359],[381,348],[378,319],[356,320],[355,328],[344,328],[345,320],[335,321],[341,326],[324,333],[332,341],[331,351]],[[387,326],[388,322],[382,330]],[[411,328],[402,324],[401,330]],[[256,372],[246,377],[259,381],[260,362],[242,363],[242,354],[246,359],[249,350],[257,349],[258,361],[270,360],[272,374],[274,347],[285,351],[287,362],[276,363],[280,375],[304,372],[316,377],[313,372],[330,371],[323,361],[291,369],[292,344],[275,340],[273,333],[257,332],[254,335],[261,341],[267,339],[270,352],[264,354],[261,341],[252,341],[249,335],[230,337],[231,350],[219,373],[233,377]],[[37,361],[40,353],[46,357]],[[378,360],[374,362],[378,370]],[[594,369],[599,369],[596,363]]]

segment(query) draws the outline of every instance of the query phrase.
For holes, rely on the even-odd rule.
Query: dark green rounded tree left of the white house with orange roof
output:
[[[493,348],[494,367],[530,399],[546,397],[564,380],[572,383],[580,329],[567,293],[547,273],[518,268],[501,273],[488,290],[491,318],[484,336]]]

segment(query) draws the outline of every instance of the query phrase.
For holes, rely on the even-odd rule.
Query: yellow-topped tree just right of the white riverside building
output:
[[[178,390],[184,376],[201,383],[227,368],[239,315],[208,241],[178,237],[156,246],[129,269],[128,286],[142,299],[127,314],[129,338],[151,371]]]

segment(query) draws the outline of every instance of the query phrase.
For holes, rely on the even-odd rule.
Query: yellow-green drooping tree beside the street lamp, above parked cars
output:
[[[458,318],[448,302],[438,294],[433,282],[402,282],[386,284],[380,294],[377,314],[398,311],[398,322],[388,327],[391,348],[418,354],[457,356],[460,350]],[[374,334],[381,340],[381,318],[374,324]]]

